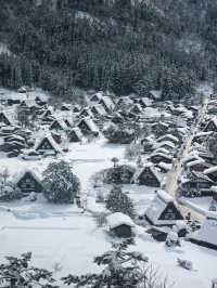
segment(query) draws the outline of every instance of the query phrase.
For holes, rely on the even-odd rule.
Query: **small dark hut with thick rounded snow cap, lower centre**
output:
[[[108,231],[117,237],[130,238],[133,235],[135,223],[130,217],[120,212],[106,218]]]

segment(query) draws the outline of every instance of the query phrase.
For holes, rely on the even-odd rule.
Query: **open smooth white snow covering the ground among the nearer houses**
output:
[[[80,178],[82,194],[87,195],[89,210],[103,210],[94,204],[95,191],[92,176],[102,169],[112,166],[111,159],[118,157],[122,163],[125,145],[107,144],[104,139],[90,144],[72,144],[63,158],[73,165],[74,172]],[[40,172],[53,158],[39,161],[24,161],[5,158],[1,155],[1,169],[8,168],[15,175],[25,168]],[[139,212],[145,210],[154,197],[154,189],[144,186],[125,185],[125,192],[135,201]],[[69,205],[54,206],[46,202],[42,197],[37,202],[25,199],[0,204],[0,261],[4,256],[21,254],[33,251],[34,264],[54,271],[54,276],[68,273],[81,274],[97,271],[92,263],[94,256],[111,247],[112,238],[105,228],[98,227],[91,212]],[[150,258],[162,277],[176,288],[208,288],[212,278],[216,277],[217,252],[183,241],[182,246],[168,250],[164,243],[156,243],[139,228],[136,236],[135,250]],[[191,260],[192,272],[177,265],[177,258]]]

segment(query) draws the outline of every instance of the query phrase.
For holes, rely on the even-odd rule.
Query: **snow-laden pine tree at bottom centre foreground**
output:
[[[68,275],[63,278],[64,284],[90,288],[137,288],[142,284],[142,287],[148,287],[148,275],[142,270],[148,258],[139,252],[129,252],[128,246],[131,244],[131,239],[113,244],[111,251],[95,257],[93,262],[99,266],[105,266],[100,274]]]

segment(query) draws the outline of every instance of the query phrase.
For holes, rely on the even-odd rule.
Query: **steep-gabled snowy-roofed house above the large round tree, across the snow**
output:
[[[39,140],[35,146],[35,150],[40,154],[58,154],[61,153],[61,149],[58,143],[53,140],[52,135],[46,135]]]

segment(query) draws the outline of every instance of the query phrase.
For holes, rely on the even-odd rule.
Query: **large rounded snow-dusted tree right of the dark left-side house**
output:
[[[44,196],[49,201],[54,204],[74,202],[80,192],[80,181],[72,172],[67,162],[61,160],[50,163],[43,175]]]

